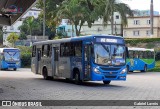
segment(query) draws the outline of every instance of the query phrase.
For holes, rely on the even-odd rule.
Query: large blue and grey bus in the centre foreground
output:
[[[126,80],[126,47],[120,36],[91,35],[35,42],[31,70],[44,79]]]

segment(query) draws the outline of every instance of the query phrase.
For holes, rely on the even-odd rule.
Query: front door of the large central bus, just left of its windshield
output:
[[[84,46],[84,79],[90,80],[90,57],[91,57],[91,45],[87,44]]]

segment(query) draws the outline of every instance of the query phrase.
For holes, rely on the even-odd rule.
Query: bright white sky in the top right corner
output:
[[[148,10],[151,0],[121,0],[128,4],[131,9]],[[160,0],[153,0],[154,11],[160,12]]]

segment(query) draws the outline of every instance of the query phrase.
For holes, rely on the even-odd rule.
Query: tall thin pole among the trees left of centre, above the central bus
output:
[[[46,0],[43,0],[43,40],[45,40],[46,31]]]

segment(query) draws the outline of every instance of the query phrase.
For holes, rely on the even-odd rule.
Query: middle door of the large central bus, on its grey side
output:
[[[53,47],[52,48],[52,74],[53,76],[60,76],[58,71],[58,64],[59,64],[59,48]]]

